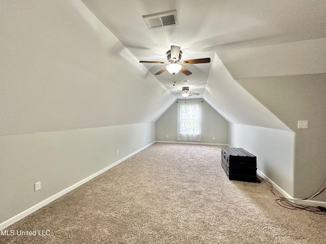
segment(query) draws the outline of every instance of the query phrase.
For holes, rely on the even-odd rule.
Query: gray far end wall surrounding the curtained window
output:
[[[185,100],[178,100],[184,102]],[[228,122],[204,100],[187,99],[186,101],[203,101],[201,118],[201,143],[228,143]],[[177,141],[178,104],[162,114],[155,123],[156,141]],[[169,137],[167,137],[169,135]],[[215,139],[213,140],[213,136]]]

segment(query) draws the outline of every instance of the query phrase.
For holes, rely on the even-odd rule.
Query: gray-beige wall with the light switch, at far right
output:
[[[316,193],[326,180],[326,74],[239,79],[258,101],[295,132],[294,197]],[[308,120],[308,129],[297,129]],[[324,194],[314,200],[326,201]]]

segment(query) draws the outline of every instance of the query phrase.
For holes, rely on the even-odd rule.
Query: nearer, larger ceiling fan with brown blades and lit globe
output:
[[[168,62],[165,61],[140,61],[139,63],[147,63],[147,64],[168,64],[166,67],[156,72],[155,75],[159,75],[164,71],[168,70],[171,74],[175,75],[179,71],[181,71],[185,75],[191,75],[192,72],[188,71],[182,65],[194,65],[194,64],[205,64],[210,63],[210,58],[197,58],[197,59],[188,59],[181,60],[182,51],[179,46],[171,45],[171,50],[167,52]],[[181,65],[182,64],[182,65]]]

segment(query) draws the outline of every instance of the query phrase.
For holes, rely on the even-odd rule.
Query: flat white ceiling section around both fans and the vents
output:
[[[166,61],[170,46],[178,45],[183,52],[182,59],[210,57],[213,60],[216,53],[234,79],[325,72],[320,62],[320,58],[325,57],[319,50],[326,46],[323,39],[326,37],[326,1],[83,2],[139,60]],[[142,18],[174,9],[178,26],[149,30]],[[321,40],[306,41],[312,39]],[[118,49],[115,51],[119,52]],[[313,65],[300,65],[302,57],[295,59],[300,53]],[[284,66],[285,61],[290,61],[291,67]],[[193,72],[189,76],[181,72],[173,76],[166,71],[155,77],[171,93],[184,86],[173,86],[175,80],[188,79],[186,86],[198,90],[201,93],[198,97],[202,97],[211,64],[187,65]],[[152,74],[165,67],[164,64],[144,66]],[[181,98],[179,94],[176,96]]]

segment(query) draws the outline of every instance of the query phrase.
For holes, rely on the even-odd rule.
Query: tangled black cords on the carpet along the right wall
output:
[[[269,189],[270,189],[270,192],[273,193],[275,196],[278,197],[278,199],[276,199],[276,203],[279,204],[280,206],[282,207],[285,207],[285,208],[288,208],[288,209],[302,209],[302,210],[307,210],[307,211],[310,211],[310,212],[313,212],[314,214],[319,214],[319,215],[326,215],[326,211],[324,211],[323,209],[324,208],[319,208],[319,207],[315,207],[315,206],[309,206],[309,205],[302,205],[302,204],[297,204],[297,203],[294,203],[292,202],[293,200],[296,200],[296,201],[302,201],[302,200],[309,200],[313,197],[316,197],[318,196],[319,194],[321,194],[323,191],[326,190],[326,187],[323,188],[322,190],[320,190],[319,192],[317,192],[316,194],[314,194],[313,196],[311,197],[308,197],[308,198],[304,198],[304,199],[291,199],[291,198],[285,198],[285,197],[282,197],[282,196],[279,196],[275,191],[274,191],[274,188],[273,188],[273,185],[268,182],[267,180],[263,179],[262,177],[258,176],[258,178],[264,180],[266,182],[266,184],[269,186]]]

